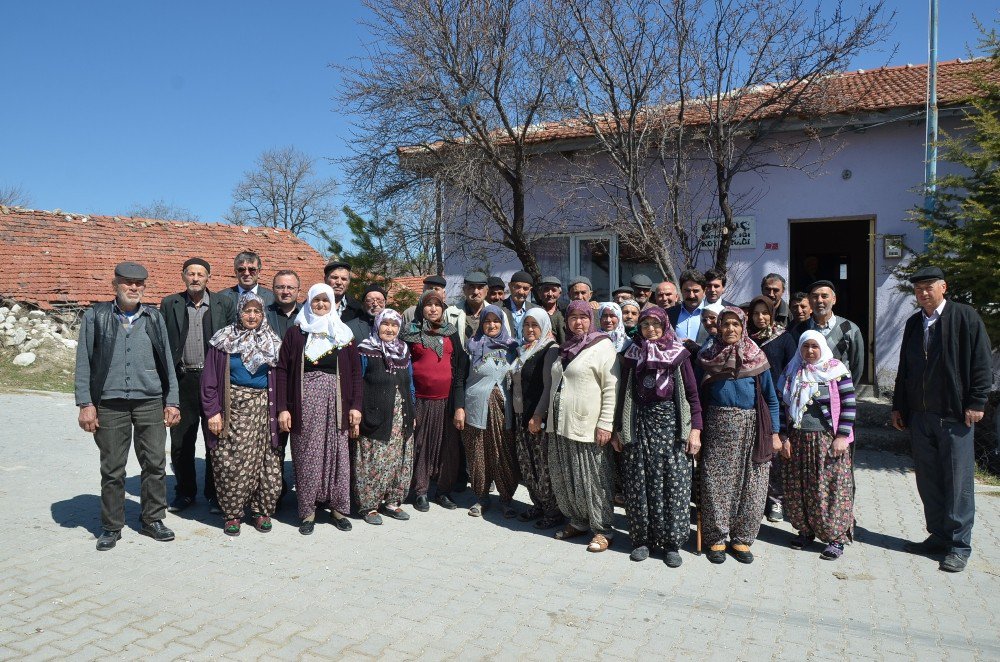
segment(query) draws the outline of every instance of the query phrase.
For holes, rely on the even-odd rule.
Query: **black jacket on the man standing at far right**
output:
[[[917,311],[906,320],[903,342],[899,348],[899,369],[892,408],[909,418],[910,412],[922,410],[925,394],[933,392],[941,408],[935,412],[946,418],[964,420],[965,410],[985,411],[986,399],[993,385],[993,359],[990,339],[979,313],[971,306],[949,301],[941,311],[942,379],[925,383],[919,369],[924,352],[923,312]]]

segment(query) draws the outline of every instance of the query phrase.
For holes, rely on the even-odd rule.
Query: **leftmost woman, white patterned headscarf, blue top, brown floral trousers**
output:
[[[208,344],[201,403],[223,531],[240,535],[240,521],[249,508],[254,527],[266,533],[281,493],[272,370],[281,339],[267,324],[264,301],[246,292],[236,303],[236,323],[216,331]]]

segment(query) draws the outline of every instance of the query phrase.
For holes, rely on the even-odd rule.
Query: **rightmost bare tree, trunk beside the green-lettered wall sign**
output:
[[[802,0],[712,0],[702,12],[689,52],[700,92],[693,110],[703,118],[698,140],[713,170],[721,220],[716,269],[727,267],[736,227],[733,180],[822,162],[812,149],[821,147],[822,133],[789,140],[788,121],[857,101],[827,94],[833,75],[881,44],[893,15],[885,15],[883,0],[850,7],[843,0],[808,7]]]

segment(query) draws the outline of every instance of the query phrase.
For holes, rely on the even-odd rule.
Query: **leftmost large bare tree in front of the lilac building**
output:
[[[384,200],[433,179],[454,203],[448,236],[497,242],[540,276],[540,219],[525,200],[531,130],[552,119],[559,65],[531,0],[366,0],[369,53],[345,68],[341,99],[359,118],[348,163],[359,197]],[[397,149],[399,145],[409,145]]]

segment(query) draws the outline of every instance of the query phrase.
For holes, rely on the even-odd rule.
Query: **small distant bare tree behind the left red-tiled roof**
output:
[[[256,167],[233,188],[226,220],[321,237],[337,218],[333,195],[337,182],[318,177],[315,160],[294,147],[267,150]]]

